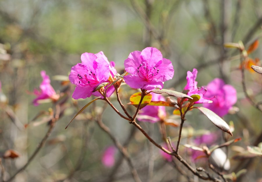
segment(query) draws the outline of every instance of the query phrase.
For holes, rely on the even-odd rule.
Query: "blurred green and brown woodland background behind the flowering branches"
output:
[[[260,40],[261,8],[259,0],[0,0],[0,153],[3,156],[12,149],[19,155],[15,159],[2,158],[4,181],[27,163],[52,125],[46,112],[57,112],[52,103],[32,104],[33,89],[42,82],[41,70],[50,76],[54,89],[66,93],[68,98],[65,96],[63,112],[58,114],[60,117],[46,144],[12,180],[134,181],[129,165],[119,152],[115,154],[114,166],[105,167],[101,162],[105,149],[113,145],[94,119],[94,110],[101,112],[102,101],[87,108],[64,129],[90,99],[72,100],[74,86],[63,76],[67,77],[71,67],[80,62],[82,53],[100,51],[116,63],[118,73],[122,74],[129,53],[145,47],[157,47],[173,63],[174,78],[164,84],[165,89],[181,92],[186,73],[193,68],[199,70],[198,86],[219,77],[236,88],[238,102],[232,115],[224,119],[228,123],[233,121],[233,138],[242,137],[242,140],[233,144],[240,148],[229,147],[231,169],[226,173],[247,169],[237,181],[262,181],[261,156],[236,157],[247,146],[262,142],[262,117],[243,92],[239,51],[224,48],[224,43],[242,40],[247,49],[254,40]],[[249,54],[252,64],[259,66],[261,54],[258,45]],[[244,67],[247,93],[259,103],[261,75]],[[135,92],[128,86],[122,87],[125,105]],[[117,105],[115,96],[111,100]],[[128,109],[132,113],[135,108],[128,106]],[[171,116],[172,109],[167,110]],[[187,181],[141,132],[109,107],[103,122],[127,147],[142,181]],[[141,123],[141,126],[158,143],[163,142],[157,123]],[[198,111],[192,111],[183,130],[187,133],[200,129],[219,133],[217,144],[223,143],[222,132]],[[179,128],[167,126],[167,130],[170,137],[176,137]],[[182,142],[187,143],[192,137],[185,134]],[[189,176],[201,181],[192,174]]]

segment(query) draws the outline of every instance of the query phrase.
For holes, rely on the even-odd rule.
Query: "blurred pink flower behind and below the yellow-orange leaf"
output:
[[[165,101],[161,94],[152,93],[152,101]],[[164,106],[147,105],[143,107],[137,116],[139,121],[155,123],[166,117],[166,109]]]

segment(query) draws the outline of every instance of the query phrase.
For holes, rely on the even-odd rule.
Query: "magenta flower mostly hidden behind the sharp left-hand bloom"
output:
[[[112,79],[114,79],[114,75],[117,73],[116,72],[116,68],[115,68],[115,63],[114,61],[108,61],[107,57],[105,56],[105,54],[100,51],[97,54],[95,54],[98,58],[103,58],[108,64],[109,64],[109,72],[110,72],[110,76],[112,77]],[[108,81],[107,81],[108,82]],[[105,86],[105,89],[108,87]],[[112,85],[107,89],[107,97],[110,97],[112,95],[112,93],[114,93],[115,91],[115,87]],[[99,92],[93,92],[94,96],[101,96],[101,94]],[[102,97],[102,96],[101,96]]]

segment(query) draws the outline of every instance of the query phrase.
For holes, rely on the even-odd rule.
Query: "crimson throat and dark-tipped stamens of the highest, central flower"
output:
[[[139,67],[137,67],[137,74],[140,78],[145,79],[146,81],[152,81],[153,77],[157,75],[159,72],[159,69],[156,69],[155,66],[149,67],[147,64],[140,64]]]

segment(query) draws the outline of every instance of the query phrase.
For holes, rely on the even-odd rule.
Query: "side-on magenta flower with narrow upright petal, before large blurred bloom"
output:
[[[194,94],[200,95],[200,99],[195,103],[211,103],[210,98],[204,97],[206,94],[206,89],[202,86],[201,88],[197,87],[197,69],[194,68],[193,71],[187,71],[187,84],[184,90],[189,90],[187,95],[192,96]]]

